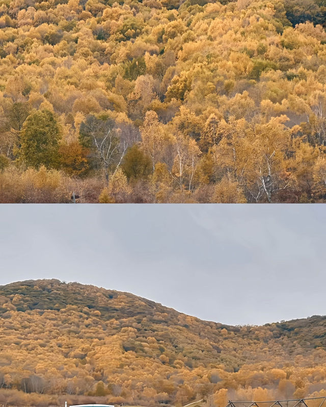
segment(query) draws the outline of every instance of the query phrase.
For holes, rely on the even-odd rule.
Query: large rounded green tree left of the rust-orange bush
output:
[[[19,138],[19,159],[27,166],[59,167],[61,131],[52,112],[44,109],[30,114],[23,124]]]

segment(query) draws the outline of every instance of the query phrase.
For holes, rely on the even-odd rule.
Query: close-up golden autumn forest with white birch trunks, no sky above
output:
[[[323,202],[325,0],[0,0],[0,202]]]

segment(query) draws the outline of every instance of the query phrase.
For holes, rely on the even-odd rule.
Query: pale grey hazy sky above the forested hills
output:
[[[58,278],[225,324],[325,314],[324,205],[1,205],[0,285]]]

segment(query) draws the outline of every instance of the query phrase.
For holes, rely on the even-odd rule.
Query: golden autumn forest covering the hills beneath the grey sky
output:
[[[0,286],[0,404],[326,396],[326,317],[228,326],[92,285]]]

